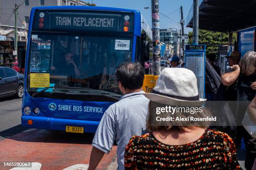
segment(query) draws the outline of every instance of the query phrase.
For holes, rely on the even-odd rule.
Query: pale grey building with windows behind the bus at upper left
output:
[[[29,15],[32,7],[38,6],[62,6],[62,5],[86,5],[82,0],[0,0],[0,23],[1,25],[15,25],[13,10],[15,3],[18,7],[18,27],[28,27]],[[26,23],[26,24],[25,24]]]

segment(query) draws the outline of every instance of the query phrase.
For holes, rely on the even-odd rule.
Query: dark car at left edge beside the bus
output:
[[[23,97],[24,75],[8,68],[0,67],[0,98],[16,95]]]

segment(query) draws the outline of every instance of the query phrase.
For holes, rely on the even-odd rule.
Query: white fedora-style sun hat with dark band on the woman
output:
[[[144,95],[154,102],[183,107],[200,106],[206,101],[199,98],[194,72],[186,68],[164,68],[152,93]]]

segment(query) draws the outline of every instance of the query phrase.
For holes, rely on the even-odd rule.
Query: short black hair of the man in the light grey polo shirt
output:
[[[117,67],[115,76],[122,83],[125,90],[126,88],[130,90],[139,89],[143,85],[144,68],[138,62],[125,62]]]

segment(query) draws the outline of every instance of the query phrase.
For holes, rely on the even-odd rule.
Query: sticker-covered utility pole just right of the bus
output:
[[[159,75],[161,71],[161,44],[160,44],[160,33],[159,33],[159,0],[151,0],[151,11],[152,11],[152,34],[153,34],[153,70],[154,75]]]

